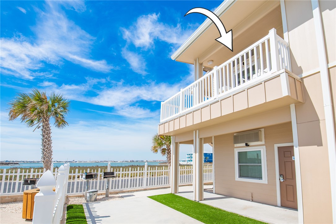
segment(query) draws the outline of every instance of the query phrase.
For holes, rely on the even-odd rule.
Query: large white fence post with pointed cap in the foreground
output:
[[[35,195],[33,223],[52,223],[56,193],[52,190],[56,181],[50,170],[47,170],[36,184],[40,192]]]

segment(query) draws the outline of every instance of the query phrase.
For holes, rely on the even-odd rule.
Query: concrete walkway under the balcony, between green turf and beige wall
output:
[[[185,189],[180,187],[177,195],[193,200],[192,190],[185,191]],[[206,191],[204,192],[204,200],[200,202],[263,222],[298,223],[298,212],[296,210],[266,205]]]

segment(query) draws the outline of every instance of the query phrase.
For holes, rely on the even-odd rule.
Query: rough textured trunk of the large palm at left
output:
[[[49,118],[42,120],[42,163],[43,168],[49,170],[52,163],[52,148],[51,148],[51,127]]]

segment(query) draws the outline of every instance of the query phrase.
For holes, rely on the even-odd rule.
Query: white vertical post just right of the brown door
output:
[[[299,153],[299,140],[298,140],[298,135],[297,135],[295,104],[291,104],[290,108],[291,108],[291,118],[292,118],[294,156],[295,156],[297,211],[298,211],[299,223],[303,223],[303,201],[302,201],[300,153]]]

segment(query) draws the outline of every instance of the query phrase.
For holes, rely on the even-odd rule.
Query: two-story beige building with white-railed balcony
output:
[[[197,7],[197,2],[195,2]],[[172,55],[195,82],[162,102],[158,133],[194,146],[194,199],[203,200],[203,145],[214,192],[298,210],[299,223],[336,223],[336,1],[224,1]],[[178,62],[176,62],[178,63]]]

